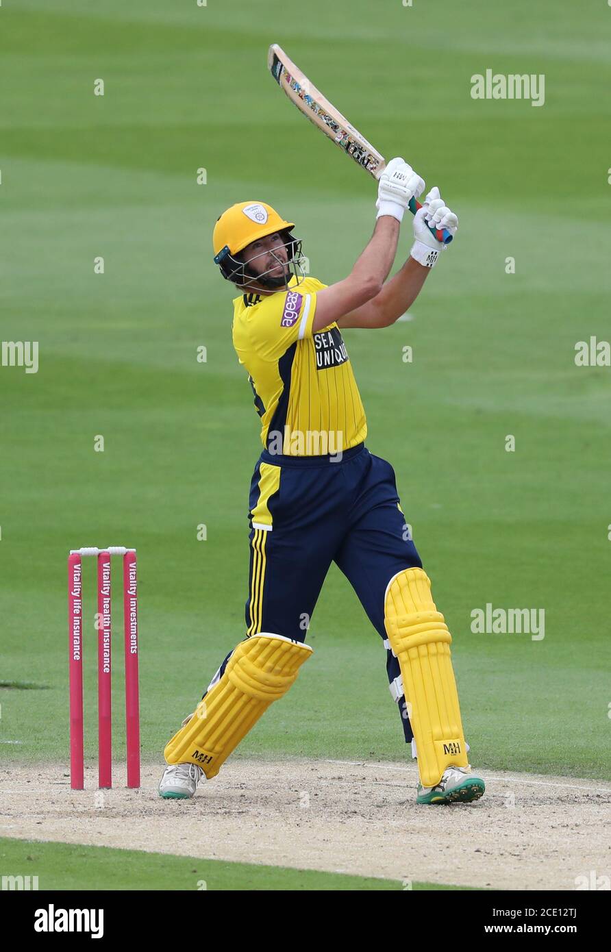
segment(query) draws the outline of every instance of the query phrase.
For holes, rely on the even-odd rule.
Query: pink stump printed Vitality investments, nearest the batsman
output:
[[[123,557],[123,612],[126,654],[126,733],[128,786],[140,786],[140,709],[138,700],[138,583],[136,553]]]

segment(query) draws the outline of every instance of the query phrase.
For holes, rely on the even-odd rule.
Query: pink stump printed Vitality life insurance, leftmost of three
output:
[[[68,559],[70,786],[82,790],[83,772],[83,579],[81,557]]]

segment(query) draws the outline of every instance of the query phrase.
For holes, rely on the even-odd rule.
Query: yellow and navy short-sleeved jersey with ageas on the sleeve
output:
[[[274,454],[335,454],[365,440],[365,409],[340,328],[312,332],[316,278],[275,294],[233,300],[233,346],[246,368],[261,417],[263,445]]]

